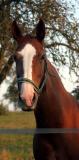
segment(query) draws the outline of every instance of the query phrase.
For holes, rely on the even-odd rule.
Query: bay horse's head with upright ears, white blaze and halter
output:
[[[46,57],[43,40],[45,24],[42,19],[36,26],[36,36],[22,35],[16,21],[12,24],[12,35],[18,47],[14,54],[19,97],[28,108],[34,107],[38,94],[43,89],[46,79]]]

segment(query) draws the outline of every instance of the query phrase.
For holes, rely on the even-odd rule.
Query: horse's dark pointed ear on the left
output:
[[[16,21],[13,21],[13,23],[12,23],[12,35],[16,41],[19,41],[19,39],[22,37],[22,33],[21,33]]]

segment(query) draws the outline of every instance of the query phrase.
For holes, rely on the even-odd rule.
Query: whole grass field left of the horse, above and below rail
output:
[[[11,112],[0,116],[0,128],[35,128],[33,112]],[[33,135],[0,134],[0,160],[34,160]]]

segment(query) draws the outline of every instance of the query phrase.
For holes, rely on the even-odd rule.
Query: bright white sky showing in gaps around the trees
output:
[[[73,3],[75,5],[74,15],[77,19],[79,19],[79,0],[61,0],[61,1],[63,3],[64,2]],[[56,68],[56,66],[55,66],[55,68]],[[76,77],[75,77],[75,75],[72,74],[72,76],[69,76],[69,69],[66,66],[64,66],[63,68],[59,68],[58,73],[61,77],[61,80],[62,80],[62,83],[63,83],[65,89],[67,91],[71,92],[73,90],[73,88],[76,87],[76,84],[75,84]],[[61,76],[61,74],[62,74],[62,76]],[[6,85],[5,81],[0,85],[0,101],[3,99],[3,94],[7,91],[8,85]],[[7,104],[8,101],[4,100],[4,103]],[[9,105],[9,109],[13,110],[13,106]]]

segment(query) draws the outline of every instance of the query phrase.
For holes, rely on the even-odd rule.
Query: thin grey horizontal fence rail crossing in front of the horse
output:
[[[79,128],[8,129],[0,128],[0,134],[54,134],[79,133]]]

